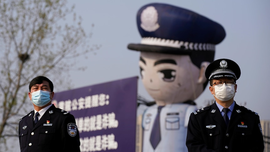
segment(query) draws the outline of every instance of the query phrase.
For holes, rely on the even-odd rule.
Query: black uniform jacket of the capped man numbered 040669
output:
[[[257,113],[235,103],[226,123],[216,103],[191,113],[186,145],[190,152],[263,152]]]

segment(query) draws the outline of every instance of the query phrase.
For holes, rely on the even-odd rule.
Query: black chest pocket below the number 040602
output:
[[[55,141],[55,128],[41,128],[39,130],[39,146],[47,146]]]

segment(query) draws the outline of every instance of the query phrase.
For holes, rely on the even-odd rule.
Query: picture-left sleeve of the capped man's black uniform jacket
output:
[[[200,125],[193,113],[191,113],[188,123],[186,145],[189,152],[216,152],[215,150],[208,149],[207,145],[204,143]]]

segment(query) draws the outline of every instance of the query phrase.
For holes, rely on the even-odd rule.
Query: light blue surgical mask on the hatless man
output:
[[[45,106],[47,103],[51,101],[50,99],[50,93],[49,91],[43,91],[43,90],[38,90],[35,92],[32,92],[32,102],[34,105],[38,107]]]

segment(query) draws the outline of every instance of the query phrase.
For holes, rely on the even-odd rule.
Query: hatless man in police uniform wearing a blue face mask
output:
[[[19,122],[21,152],[80,152],[80,136],[75,118],[51,104],[53,83],[44,76],[29,84],[29,98],[34,111]]]

